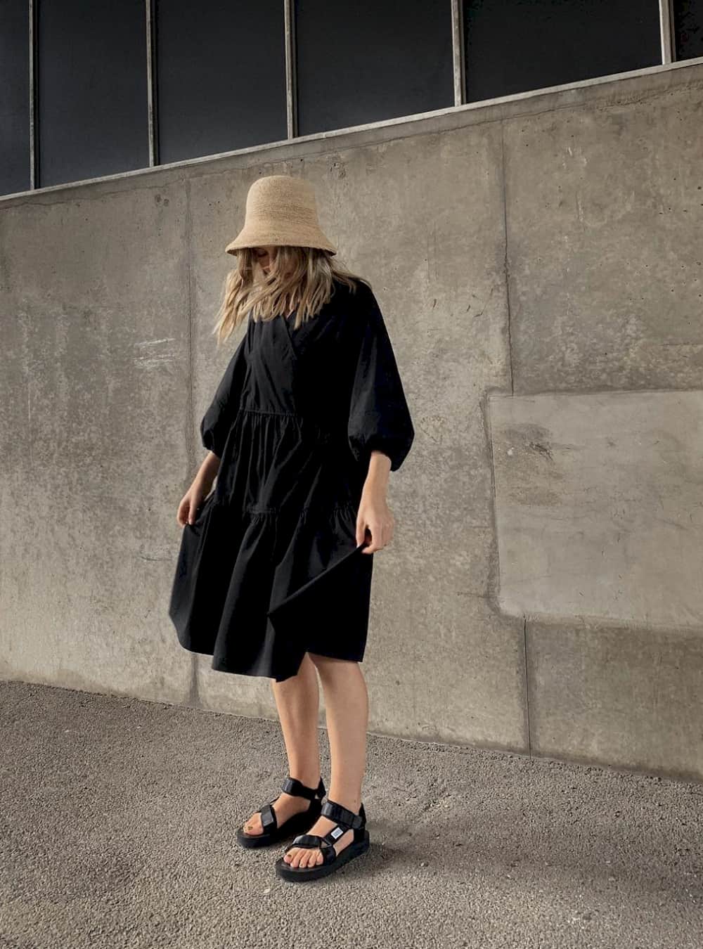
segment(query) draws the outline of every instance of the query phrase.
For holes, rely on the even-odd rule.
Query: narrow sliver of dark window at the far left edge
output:
[[[0,194],[28,191],[29,9],[27,0],[0,7]]]

